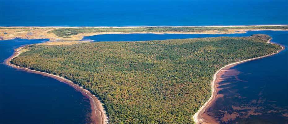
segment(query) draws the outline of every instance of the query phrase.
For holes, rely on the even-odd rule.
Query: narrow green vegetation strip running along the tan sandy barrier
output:
[[[248,27],[140,27],[140,28],[60,28],[49,31],[59,37],[70,37],[79,33],[101,33],[101,32],[197,32],[227,29],[288,29],[288,26],[248,26]]]

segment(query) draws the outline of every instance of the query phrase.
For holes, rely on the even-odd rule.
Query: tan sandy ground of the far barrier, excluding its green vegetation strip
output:
[[[0,40],[10,40],[14,38],[22,39],[49,39],[50,41],[77,41],[85,36],[93,36],[99,34],[131,34],[131,33],[154,33],[154,34],[231,34],[231,33],[246,33],[247,31],[259,30],[287,30],[287,29],[249,29],[250,26],[286,26],[286,25],[233,25],[233,26],[126,26],[126,27],[0,27]],[[204,30],[193,32],[92,32],[79,33],[69,37],[59,37],[49,31],[61,28],[145,28],[145,27],[247,27],[245,29],[226,29],[226,30]]]

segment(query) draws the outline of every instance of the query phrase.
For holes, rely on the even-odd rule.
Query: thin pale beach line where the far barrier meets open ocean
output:
[[[0,26],[0,28],[147,28],[147,27],[261,27],[261,26],[286,26],[288,24],[256,24],[256,25],[204,25],[204,26]]]

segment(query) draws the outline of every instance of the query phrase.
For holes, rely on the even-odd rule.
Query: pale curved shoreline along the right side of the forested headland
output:
[[[274,43],[274,42],[270,42],[272,40],[272,38],[270,38],[267,43],[271,43],[271,44],[277,44],[277,43]],[[280,44],[277,44],[277,45],[280,45]],[[203,119],[203,117],[201,117],[201,115],[206,111],[206,109],[208,109],[212,104],[213,102],[216,100],[216,95],[217,95],[217,84],[216,84],[216,81],[217,81],[217,78],[219,77],[219,72],[221,72],[222,70],[225,70],[225,69],[229,69],[237,64],[241,64],[241,63],[244,63],[244,62],[247,62],[247,61],[252,61],[252,60],[257,60],[257,59],[261,59],[261,58],[264,58],[264,57],[268,57],[268,56],[271,56],[271,55],[275,55],[281,51],[283,51],[285,49],[284,46],[280,45],[281,46],[281,50],[278,50],[276,53],[272,53],[272,54],[269,54],[269,55],[265,55],[265,56],[260,56],[260,57],[256,57],[256,58],[252,58],[252,59],[248,59],[248,60],[243,60],[243,61],[239,61],[239,62],[235,62],[235,63],[231,63],[231,64],[228,64],[228,65],[225,65],[224,67],[222,67],[221,69],[217,70],[216,73],[213,75],[213,80],[211,82],[211,96],[209,98],[209,100],[201,107],[199,108],[199,110],[197,111],[197,113],[195,113],[193,115],[193,120],[195,122],[195,124],[202,124],[202,123],[209,123],[209,124],[212,124],[212,123],[215,123],[215,122],[204,122],[205,120]],[[206,120],[207,121],[207,120]]]

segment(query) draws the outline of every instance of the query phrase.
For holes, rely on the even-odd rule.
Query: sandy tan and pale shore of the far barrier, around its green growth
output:
[[[262,27],[267,28],[262,28]],[[232,26],[127,26],[127,27],[3,27],[0,26],[2,32],[0,32],[0,40],[10,40],[15,38],[22,39],[49,39],[50,41],[80,41],[83,37],[100,35],[100,34],[134,34],[134,33],[152,33],[152,34],[234,34],[234,33],[246,33],[247,31],[262,31],[262,30],[271,30],[271,31],[288,31],[288,29],[269,29],[274,26],[288,26],[288,25],[232,25]],[[206,27],[212,28],[209,30],[195,30],[195,31],[143,31],[143,30],[132,30],[129,31],[129,28],[147,28],[147,27],[158,27],[158,28],[197,28],[197,27]],[[214,27],[214,29],[213,29]],[[221,27],[230,27],[225,30],[218,30],[217,28]],[[233,28],[236,27],[236,28]],[[245,28],[246,27],[246,28]],[[259,27],[259,28],[257,28]],[[261,28],[260,28],[261,27]],[[73,34],[69,37],[57,36],[55,33],[51,33],[55,29],[72,29],[72,28],[109,28],[105,32],[82,32]],[[121,29],[123,28],[123,29]],[[116,30],[114,30],[116,29]],[[88,29],[89,30],[89,29]],[[98,29],[97,29],[98,30]],[[100,29],[101,30],[101,29]],[[125,31],[127,30],[127,31]],[[110,31],[110,32],[109,32]],[[49,32],[49,33],[48,33]]]

